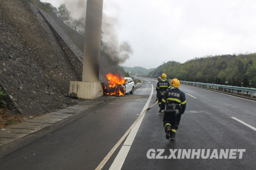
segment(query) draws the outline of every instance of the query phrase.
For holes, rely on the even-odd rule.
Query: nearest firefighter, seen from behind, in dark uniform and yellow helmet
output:
[[[164,113],[163,126],[166,132],[166,139],[175,140],[176,132],[180,124],[181,114],[186,109],[186,96],[180,91],[180,81],[172,79],[172,88],[167,90],[163,96],[161,104],[161,113],[166,110],[175,110],[175,113]]]

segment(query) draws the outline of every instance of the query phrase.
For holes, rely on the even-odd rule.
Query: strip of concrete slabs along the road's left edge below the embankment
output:
[[[35,133],[46,127],[50,127],[51,125],[73,117],[87,109],[92,108],[93,106],[99,105],[115,97],[116,96],[101,96],[96,99],[90,99],[77,105],[73,105],[59,111],[46,113],[43,116],[29,119],[26,122],[0,129],[0,157],[2,157],[5,153],[5,151],[3,150],[4,146],[6,147],[6,145],[15,142],[18,139],[29,136],[32,133]],[[8,148],[8,146],[6,148]]]

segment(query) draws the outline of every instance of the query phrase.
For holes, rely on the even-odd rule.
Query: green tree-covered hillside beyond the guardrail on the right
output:
[[[150,72],[170,79],[256,88],[256,53],[195,58],[181,64],[169,61]]]

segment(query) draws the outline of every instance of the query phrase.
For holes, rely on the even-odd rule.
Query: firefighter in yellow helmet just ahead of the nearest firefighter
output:
[[[158,98],[159,108],[161,107],[163,94],[166,92],[167,89],[171,88],[170,82],[168,82],[166,78],[167,78],[166,74],[163,73],[161,75],[161,80],[159,82],[157,82],[156,91],[157,91],[157,94],[158,94],[157,98]],[[161,110],[159,110],[159,112],[160,111]]]

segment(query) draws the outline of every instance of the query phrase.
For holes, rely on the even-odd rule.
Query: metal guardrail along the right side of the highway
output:
[[[243,88],[243,87],[236,87],[236,86],[230,86],[230,85],[215,85],[215,84],[209,84],[209,83],[201,83],[201,82],[186,82],[186,81],[180,81],[180,83],[183,84],[189,84],[189,85],[200,85],[201,87],[212,87],[214,89],[216,88],[222,88],[223,91],[225,89],[231,89],[236,94],[236,91],[246,91],[250,92],[251,97],[253,97],[253,93],[256,93],[256,88]]]

